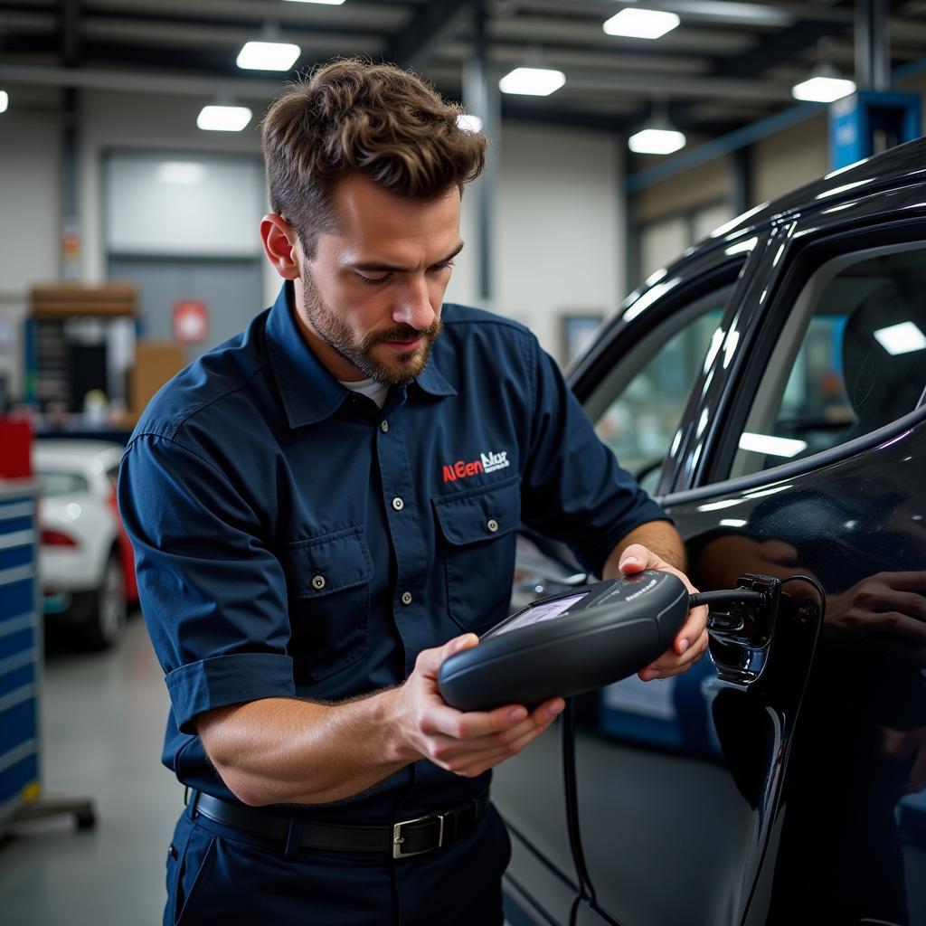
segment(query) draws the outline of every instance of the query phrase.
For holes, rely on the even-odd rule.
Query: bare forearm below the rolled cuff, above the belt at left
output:
[[[245,804],[323,804],[419,758],[396,733],[396,690],[339,705],[267,698],[209,711],[197,730]]]

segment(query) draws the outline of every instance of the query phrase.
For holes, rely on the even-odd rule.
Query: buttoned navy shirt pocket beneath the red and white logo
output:
[[[443,537],[447,613],[481,633],[504,618],[511,601],[520,525],[520,477],[489,488],[432,498]]]

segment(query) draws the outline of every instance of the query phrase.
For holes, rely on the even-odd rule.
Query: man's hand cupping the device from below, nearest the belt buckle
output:
[[[474,633],[467,633],[442,647],[422,650],[407,682],[395,690],[399,735],[408,761],[426,758],[442,769],[475,778],[520,752],[566,706],[555,697],[532,711],[523,705],[467,712],[448,707],[437,687],[438,670],[444,659],[478,643]]]

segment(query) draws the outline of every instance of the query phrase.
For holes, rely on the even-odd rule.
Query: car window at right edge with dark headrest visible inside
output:
[[[759,382],[731,477],[845,444],[917,406],[926,382],[924,251],[838,257],[811,276]]]

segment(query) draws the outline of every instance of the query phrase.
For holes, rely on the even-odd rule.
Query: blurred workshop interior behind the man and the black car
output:
[[[646,11],[663,16],[616,21]],[[296,47],[245,69],[249,42]],[[418,70],[480,120],[489,166],[447,299],[518,319],[567,365],[685,248],[856,160],[833,129],[854,90],[926,89],[926,0],[0,0],[0,555],[19,557],[0,560],[4,924],[160,920],[182,794],[131,575],[101,573],[85,638],[55,626],[60,525],[97,518],[88,546],[118,543],[118,455],[53,444],[124,444],[163,382],[270,304],[259,120],[285,81],[352,55]],[[515,69],[551,82],[505,92]],[[812,77],[855,87],[795,98]],[[208,129],[207,106],[247,113]],[[631,150],[645,129],[669,153]],[[861,155],[904,140],[874,131]],[[74,514],[69,488],[100,512]]]

